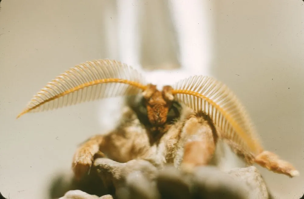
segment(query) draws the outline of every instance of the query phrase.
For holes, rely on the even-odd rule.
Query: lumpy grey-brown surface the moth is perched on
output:
[[[67,191],[60,199],[274,199],[253,166],[226,172],[216,167],[197,167],[188,173],[170,165],[158,170],[142,160],[123,164],[100,158],[94,163],[94,168],[100,178],[108,176],[111,179],[116,186],[116,194],[88,194],[83,189],[76,189]]]

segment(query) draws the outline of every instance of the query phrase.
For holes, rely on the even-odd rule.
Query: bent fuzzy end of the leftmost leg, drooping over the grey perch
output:
[[[104,154],[99,151],[103,141],[103,135],[95,135],[85,143],[81,144],[74,153],[72,169],[76,180],[80,180],[82,176],[88,174],[96,154],[99,157],[104,156]]]

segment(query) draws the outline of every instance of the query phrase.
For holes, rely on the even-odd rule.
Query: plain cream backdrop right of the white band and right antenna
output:
[[[233,89],[250,112],[264,147],[301,173],[290,179],[261,169],[278,198],[304,192],[303,1],[215,3],[211,74]]]

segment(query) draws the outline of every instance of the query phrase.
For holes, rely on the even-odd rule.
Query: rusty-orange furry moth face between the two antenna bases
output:
[[[171,86],[164,86],[163,90],[159,91],[153,84],[148,84],[143,91],[144,105],[150,124],[159,126],[166,123],[169,110],[174,102],[171,91]]]

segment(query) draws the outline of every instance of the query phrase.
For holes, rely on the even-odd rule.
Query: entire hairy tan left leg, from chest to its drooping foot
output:
[[[137,159],[147,153],[149,139],[145,129],[128,123],[105,135],[96,135],[82,144],[74,154],[72,168],[76,179],[88,174],[94,158],[107,157],[117,162]]]

